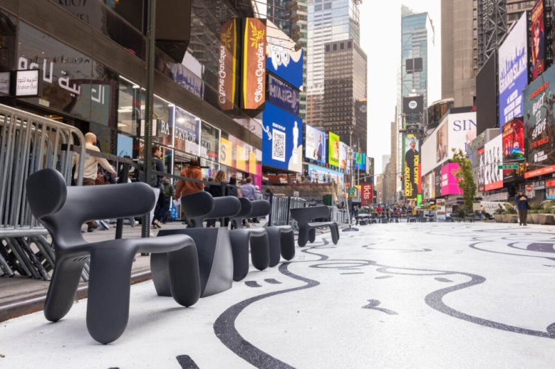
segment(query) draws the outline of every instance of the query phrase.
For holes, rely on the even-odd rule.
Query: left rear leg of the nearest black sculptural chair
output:
[[[78,260],[76,260],[78,259]],[[58,256],[46,300],[44,317],[51,322],[63,318],[74,305],[77,287],[88,257],[67,258]]]

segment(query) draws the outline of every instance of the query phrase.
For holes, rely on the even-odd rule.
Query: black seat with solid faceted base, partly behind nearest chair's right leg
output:
[[[163,229],[158,237],[189,235],[196,243],[200,271],[200,297],[219,294],[232,286],[233,258],[228,228],[203,228],[205,219],[233,217],[241,204],[237,197],[216,197],[200,191],[181,197],[181,207],[193,228]],[[151,255],[151,272],[159,296],[171,296],[167,256]]]

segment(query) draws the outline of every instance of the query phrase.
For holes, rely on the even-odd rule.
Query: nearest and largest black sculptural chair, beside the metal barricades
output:
[[[110,343],[123,334],[129,317],[130,276],[136,253],[168,253],[174,300],[194,305],[200,296],[198,259],[191,237],[109,240],[87,243],[81,226],[93,219],[144,215],[155,204],[145,183],[67,187],[58,171],[43,169],[26,182],[35,218],[52,236],[56,252],[44,316],[59,321],[74,303],[83,264],[90,258],[87,329],[93,339]]]

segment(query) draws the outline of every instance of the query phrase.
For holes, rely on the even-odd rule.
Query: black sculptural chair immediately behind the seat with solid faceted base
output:
[[[253,267],[262,271],[270,265],[270,245],[266,228],[243,228],[243,219],[264,217],[270,213],[271,205],[266,200],[250,201],[245,197],[241,201],[241,211],[232,217],[235,229],[230,231],[233,251],[233,280],[244,279],[248,274],[248,246]]]

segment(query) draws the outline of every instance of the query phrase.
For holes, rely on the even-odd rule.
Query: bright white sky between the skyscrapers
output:
[[[377,5],[379,4],[379,5]],[[368,156],[375,174],[382,172],[382,155],[391,150],[395,120],[397,74],[401,63],[401,5],[428,12],[441,48],[441,0],[364,0],[360,6],[361,46],[368,56]],[[441,73],[441,71],[437,71]]]

